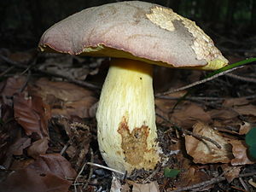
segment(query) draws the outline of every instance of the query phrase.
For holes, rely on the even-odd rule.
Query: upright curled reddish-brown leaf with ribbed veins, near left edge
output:
[[[40,138],[48,137],[49,106],[39,96],[25,94],[14,96],[15,119],[26,135],[37,133]]]

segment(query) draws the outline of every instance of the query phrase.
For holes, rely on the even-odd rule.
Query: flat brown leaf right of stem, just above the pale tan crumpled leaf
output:
[[[182,110],[179,109],[172,113],[172,121],[183,128],[190,128],[197,121],[209,123],[212,119],[203,108],[194,103],[189,103],[189,105],[185,105]]]

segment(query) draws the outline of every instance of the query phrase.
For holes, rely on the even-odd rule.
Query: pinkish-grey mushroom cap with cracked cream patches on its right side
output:
[[[129,58],[166,67],[218,69],[228,61],[194,21],[154,3],[84,9],[44,32],[42,51]]]

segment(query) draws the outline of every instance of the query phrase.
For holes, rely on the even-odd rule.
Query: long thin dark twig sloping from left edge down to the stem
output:
[[[23,69],[24,68],[26,69],[28,67],[27,65],[21,65],[18,62],[11,61],[11,60],[9,60],[9,58],[7,58],[3,55],[0,55],[0,58],[3,59],[3,61],[6,61],[7,63],[9,63],[10,65],[13,65],[15,67],[19,67],[19,68],[23,68]],[[44,74],[47,74],[49,76],[54,76],[54,77],[58,77],[58,78],[62,78],[62,79],[67,79],[67,81],[69,81],[69,82],[72,82],[74,84],[79,84],[81,86],[84,86],[84,87],[87,87],[87,88],[90,88],[90,89],[96,89],[96,90],[101,89],[101,87],[97,86],[96,84],[90,84],[90,83],[85,82],[85,81],[80,81],[80,80],[77,80],[77,79],[67,77],[65,75],[48,72],[48,71],[45,71],[45,70],[42,70],[42,69],[39,69],[39,68],[36,68],[36,67],[33,67],[31,70],[34,71],[34,72],[38,72],[38,73],[44,73]]]

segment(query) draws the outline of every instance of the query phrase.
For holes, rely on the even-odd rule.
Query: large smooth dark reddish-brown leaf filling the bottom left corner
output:
[[[44,154],[25,169],[10,174],[0,183],[0,189],[4,192],[66,192],[72,184],[67,177],[76,177],[70,163],[61,154]]]

